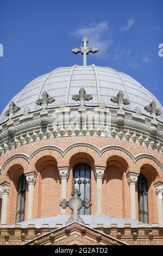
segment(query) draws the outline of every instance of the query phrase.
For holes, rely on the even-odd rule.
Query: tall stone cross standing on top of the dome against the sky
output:
[[[73,48],[72,49],[72,52],[75,53],[75,54],[78,54],[78,53],[83,54],[83,65],[84,66],[86,66],[86,56],[87,56],[87,54],[90,54],[90,52],[92,52],[92,53],[98,52],[98,48],[96,48],[96,47],[91,48],[91,46],[87,46],[87,42],[89,42],[87,40],[87,38],[83,38],[84,46],[83,47],[80,46],[80,48]]]

